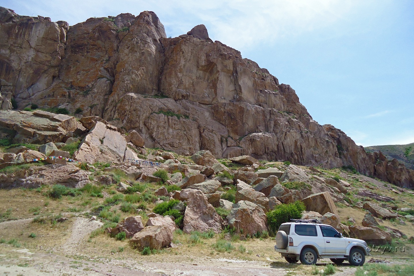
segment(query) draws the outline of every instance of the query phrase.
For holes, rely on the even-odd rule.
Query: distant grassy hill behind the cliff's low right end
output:
[[[407,145],[367,146],[366,152],[381,151],[388,159],[396,158],[404,165],[414,170],[414,143]]]

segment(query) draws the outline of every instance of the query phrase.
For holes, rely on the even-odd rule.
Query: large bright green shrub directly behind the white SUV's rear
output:
[[[274,207],[272,211],[266,213],[269,230],[276,233],[282,223],[289,222],[291,218],[300,219],[305,210],[305,204],[300,201]]]

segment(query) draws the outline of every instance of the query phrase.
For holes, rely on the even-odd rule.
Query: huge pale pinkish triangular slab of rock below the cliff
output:
[[[123,163],[127,159],[138,159],[137,154],[127,146],[125,136],[118,128],[96,122],[75,151],[74,159],[93,164],[95,162]]]

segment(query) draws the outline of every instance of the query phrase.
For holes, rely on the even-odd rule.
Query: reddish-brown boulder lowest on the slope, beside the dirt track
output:
[[[166,247],[173,240],[173,233],[168,225],[147,226],[140,232],[136,233],[130,243],[140,250],[145,247],[151,249],[161,249]]]

